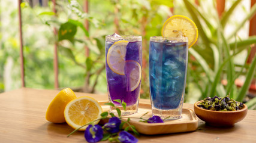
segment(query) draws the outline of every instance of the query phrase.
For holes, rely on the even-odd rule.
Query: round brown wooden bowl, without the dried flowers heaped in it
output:
[[[234,123],[237,123],[245,118],[248,110],[245,104],[243,104],[242,109],[237,111],[206,110],[197,106],[202,101],[203,100],[195,102],[194,111],[199,119],[203,120],[207,125],[210,126],[234,126]]]

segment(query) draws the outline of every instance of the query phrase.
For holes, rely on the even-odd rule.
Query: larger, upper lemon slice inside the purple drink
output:
[[[128,41],[115,42],[107,52],[107,64],[114,73],[125,74],[125,55],[128,43]]]

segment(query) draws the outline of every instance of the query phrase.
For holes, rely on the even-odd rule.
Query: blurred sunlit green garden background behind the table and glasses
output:
[[[33,4],[31,2],[34,2]],[[0,0],[0,92],[21,87],[18,1]],[[58,45],[59,89],[106,94],[106,35],[143,36],[141,98],[149,98],[149,37],[161,35],[162,24],[173,14],[186,15],[198,26],[199,38],[189,49],[185,102],[215,95],[246,102],[256,108],[256,58],[246,63],[256,37],[248,36],[249,19],[256,13],[250,1],[226,0],[219,18],[215,0],[24,0],[22,8],[25,84],[28,88],[54,89],[53,48]],[[173,8],[173,13],[171,12]],[[85,21],[89,29],[85,29]],[[54,34],[53,28],[67,34]],[[73,33],[68,33],[72,30]],[[89,50],[86,51],[85,47]],[[236,80],[244,82],[239,87]]]

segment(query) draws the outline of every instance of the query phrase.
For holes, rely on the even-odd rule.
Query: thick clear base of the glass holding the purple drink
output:
[[[115,105],[115,107],[119,108],[121,110],[122,116],[127,116],[127,115],[135,114],[138,112],[138,104],[134,104],[134,105],[126,107],[126,110],[124,110],[124,108],[122,106]],[[110,113],[118,115],[118,112],[116,111],[115,107],[110,106]]]

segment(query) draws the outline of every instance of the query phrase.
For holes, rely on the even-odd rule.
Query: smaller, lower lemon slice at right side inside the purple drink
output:
[[[141,80],[141,66],[137,61],[125,61],[125,74],[127,76],[127,90],[134,91]]]

